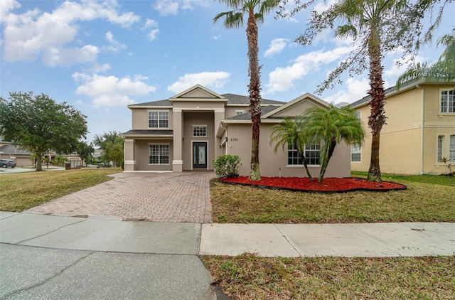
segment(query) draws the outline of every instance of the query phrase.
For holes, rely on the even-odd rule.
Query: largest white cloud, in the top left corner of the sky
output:
[[[4,3],[1,1],[4,23],[2,52],[4,60],[11,62],[38,58],[41,58],[43,63],[53,66],[92,62],[93,55],[97,54],[95,46],[85,45],[80,48],[68,46],[76,40],[79,22],[101,18],[122,27],[129,27],[139,21],[139,16],[133,13],[120,14],[115,1],[65,1],[50,13],[41,13],[34,9],[23,14],[12,12],[18,7],[16,2]],[[7,6],[9,12],[3,11],[4,6]],[[71,56],[70,53],[75,56]]]

